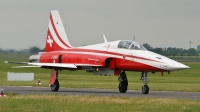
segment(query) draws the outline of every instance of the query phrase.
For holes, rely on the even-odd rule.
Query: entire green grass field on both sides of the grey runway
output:
[[[41,86],[49,85],[51,70],[40,68],[11,68],[12,64],[4,64],[13,56],[0,58],[0,85],[38,86],[35,83],[41,79]],[[7,59],[9,58],[9,59]],[[24,61],[23,56],[13,61]],[[12,61],[12,60],[11,60]],[[190,69],[171,72],[164,77],[160,73],[149,73],[150,91],[189,91],[200,92],[200,63],[187,62]],[[34,72],[34,81],[7,81],[7,72]],[[142,81],[140,73],[127,72],[128,89],[140,90]],[[118,77],[94,76],[85,71],[62,71],[59,74],[61,87],[67,88],[109,88],[118,89]],[[141,93],[142,94],[142,93]],[[98,97],[76,95],[19,95],[6,93],[7,97],[0,98],[0,112],[13,111],[45,111],[45,112],[198,112],[200,100],[174,98],[129,98],[129,97]]]

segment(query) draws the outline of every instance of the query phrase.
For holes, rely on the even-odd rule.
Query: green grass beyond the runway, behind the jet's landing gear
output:
[[[10,57],[8,58],[10,59]],[[23,58],[17,59],[23,61]],[[4,64],[4,59],[0,60],[0,85],[11,86],[38,86],[36,82],[41,79],[41,86],[49,85],[49,78],[51,70],[41,68],[11,68],[16,66],[13,64]],[[13,60],[13,59],[12,59]],[[16,60],[13,60],[16,61]],[[200,84],[200,63],[187,62],[184,63],[190,66],[190,69],[165,73],[164,77],[161,73],[149,73],[149,87],[150,91],[187,91],[200,92],[198,85]],[[7,72],[34,72],[34,81],[7,81]],[[129,81],[129,90],[141,90],[142,81],[139,72],[127,72]],[[118,89],[117,76],[94,76],[85,71],[62,71],[59,74],[59,82],[61,87],[67,88],[104,88],[104,89]]]

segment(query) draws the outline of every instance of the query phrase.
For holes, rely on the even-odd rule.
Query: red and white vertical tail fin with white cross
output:
[[[59,12],[53,10],[50,13],[49,26],[46,37],[45,52],[64,50],[71,48]]]

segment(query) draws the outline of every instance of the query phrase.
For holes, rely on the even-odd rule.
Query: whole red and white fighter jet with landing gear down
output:
[[[104,36],[104,43],[72,47],[57,10],[50,13],[45,52],[30,56],[27,64],[52,70],[50,77],[52,91],[59,89],[59,71],[86,70],[96,75],[119,76],[119,91],[125,93],[128,87],[125,71],[138,71],[141,72],[140,80],[143,81],[143,94],[149,93],[148,72],[161,72],[163,75],[163,72],[170,73],[170,71],[189,68],[148,51],[140,43],[132,40],[108,42]]]

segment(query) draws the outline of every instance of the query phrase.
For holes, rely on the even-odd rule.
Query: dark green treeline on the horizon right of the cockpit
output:
[[[144,47],[146,47],[147,50],[164,55],[164,56],[199,56],[199,53],[196,49],[190,48],[188,50],[183,48],[175,48],[175,47],[168,47],[168,48],[153,48],[149,44],[145,43],[143,44]]]

